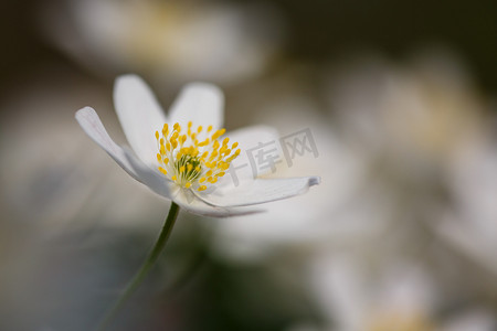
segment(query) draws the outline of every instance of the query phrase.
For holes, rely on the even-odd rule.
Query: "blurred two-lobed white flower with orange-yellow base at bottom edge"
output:
[[[435,288],[413,265],[387,265],[373,271],[351,254],[318,255],[310,285],[337,330],[433,330]]]

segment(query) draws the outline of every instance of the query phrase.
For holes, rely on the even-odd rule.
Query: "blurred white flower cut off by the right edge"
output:
[[[486,137],[462,149],[453,159],[447,178],[454,205],[446,209],[440,222],[430,224],[442,238],[494,275],[497,275],[496,147],[497,141]]]

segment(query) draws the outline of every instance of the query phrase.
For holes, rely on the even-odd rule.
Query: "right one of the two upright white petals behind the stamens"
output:
[[[191,120],[194,127],[207,128],[212,125],[216,130],[224,122],[224,96],[216,86],[207,83],[192,83],[181,89],[170,108],[170,124],[179,122],[187,127]]]

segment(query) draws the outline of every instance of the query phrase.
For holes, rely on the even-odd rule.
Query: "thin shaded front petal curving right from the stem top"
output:
[[[190,213],[210,216],[210,217],[229,217],[261,213],[263,210],[254,210],[247,207],[222,207],[213,206],[199,200],[191,190],[178,189],[173,192],[173,201],[182,209]]]

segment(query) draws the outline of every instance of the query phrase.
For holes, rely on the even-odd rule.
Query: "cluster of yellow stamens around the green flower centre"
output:
[[[237,142],[231,147],[228,145],[230,138],[219,141],[225,131],[221,129],[212,134],[212,126],[205,130],[199,126],[193,130],[189,121],[188,130],[182,135],[179,124],[175,124],[172,130],[165,124],[161,135],[156,131],[159,171],[182,188],[207,190],[225,174],[241,152],[235,150]]]

